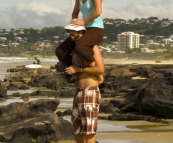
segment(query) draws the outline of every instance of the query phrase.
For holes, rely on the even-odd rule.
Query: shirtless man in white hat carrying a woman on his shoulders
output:
[[[68,28],[67,28],[68,27]],[[85,28],[82,26],[65,27],[70,38],[80,40]],[[94,46],[94,62],[90,65],[82,63],[75,50],[72,52],[72,65],[65,68],[65,73],[75,76],[76,94],[73,99],[71,116],[72,133],[76,143],[95,143],[97,117],[99,113],[99,84],[103,82],[104,64],[98,46]]]

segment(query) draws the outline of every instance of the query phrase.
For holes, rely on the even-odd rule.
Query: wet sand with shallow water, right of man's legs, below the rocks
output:
[[[64,119],[70,120],[70,117]],[[172,143],[173,124],[99,120],[96,140],[99,143]]]

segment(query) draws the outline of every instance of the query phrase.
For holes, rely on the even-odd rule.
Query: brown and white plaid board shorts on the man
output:
[[[71,116],[73,134],[96,134],[100,99],[101,95],[98,87],[86,87],[76,90]]]

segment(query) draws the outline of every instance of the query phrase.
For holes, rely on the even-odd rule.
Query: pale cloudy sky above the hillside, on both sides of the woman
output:
[[[65,26],[75,0],[0,0],[0,29]],[[103,18],[173,20],[173,0],[103,0]]]

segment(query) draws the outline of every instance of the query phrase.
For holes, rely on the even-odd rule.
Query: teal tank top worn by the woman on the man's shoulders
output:
[[[79,0],[79,3],[80,3],[79,9],[83,14],[83,19],[85,19],[88,16],[90,16],[91,13],[94,11],[94,4],[91,0],[87,0],[84,4],[82,3],[82,0]],[[87,23],[85,27],[86,28],[89,28],[89,27],[104,28],[102,15],[95,18],[93,21]]]

